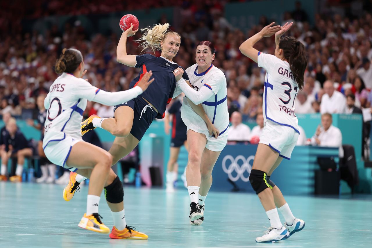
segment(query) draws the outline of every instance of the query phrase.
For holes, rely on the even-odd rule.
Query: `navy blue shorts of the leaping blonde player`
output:
[[[128,102],[124,102],[122,104],[114,106],[114,117],[115,117],[115,110],[120,106],[129,106],[133,109],[134,117],[133,117],[133,124],[131,129],[131,134],[138,140],[141,140],[144,134],[147,131],[147,128],[150,127],[150,124],[153,122],[155,116],[158,114],[155,110],[151,108],[147,108],[146,112],[142,114],[141,120],[141,112],[142,109],[148,103],[141,97],[137,96]]]

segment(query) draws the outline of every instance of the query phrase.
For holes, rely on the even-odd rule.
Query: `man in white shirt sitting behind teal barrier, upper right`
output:
[[[327,80],[323,85],[324,95],[320,104],[320,113],[343,114],[346,107],[346,98],[334,89],[333,82]]]

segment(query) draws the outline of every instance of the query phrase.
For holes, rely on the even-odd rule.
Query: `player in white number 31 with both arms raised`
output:
[[[282,37],[292,26],[264,27],[240,45],[240,51],[266,70],[264,83],[264,128],[260,136],[256,156],[249,181],[259,196],[270,228],[256,242],[275,242],[286,239],[302,230],[305,222],[293,216],[278,186],[270,180],[273,171],[282,159],[290,159],[299,136],[298,120],[294,114],[295,98],[304,86],[307,56],[304,45],[294,37]],[[264,54],[253,48],[263,37],[275,34],[275,55]],[[281,38],[282,37],[282,38]],[[285,218],[285,226],[280,223],[278,210]]]

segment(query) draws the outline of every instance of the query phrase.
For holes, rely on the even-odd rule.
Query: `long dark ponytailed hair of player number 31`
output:
[[[279,48],[283,50],[283,57],[288,60],[295,82],[301,90],[304,86],[304,74],[307,66],[305,46],[294,37],[282,37]]]

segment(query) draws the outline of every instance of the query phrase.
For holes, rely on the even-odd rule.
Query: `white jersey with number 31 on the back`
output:
[[[259,67],[266,70],[262,104],[265,123],[270,120],[291,127],[299,133],[295,115],[295,98],[299,89],[289,63],[274,55],[261,52],[257,63]]]

